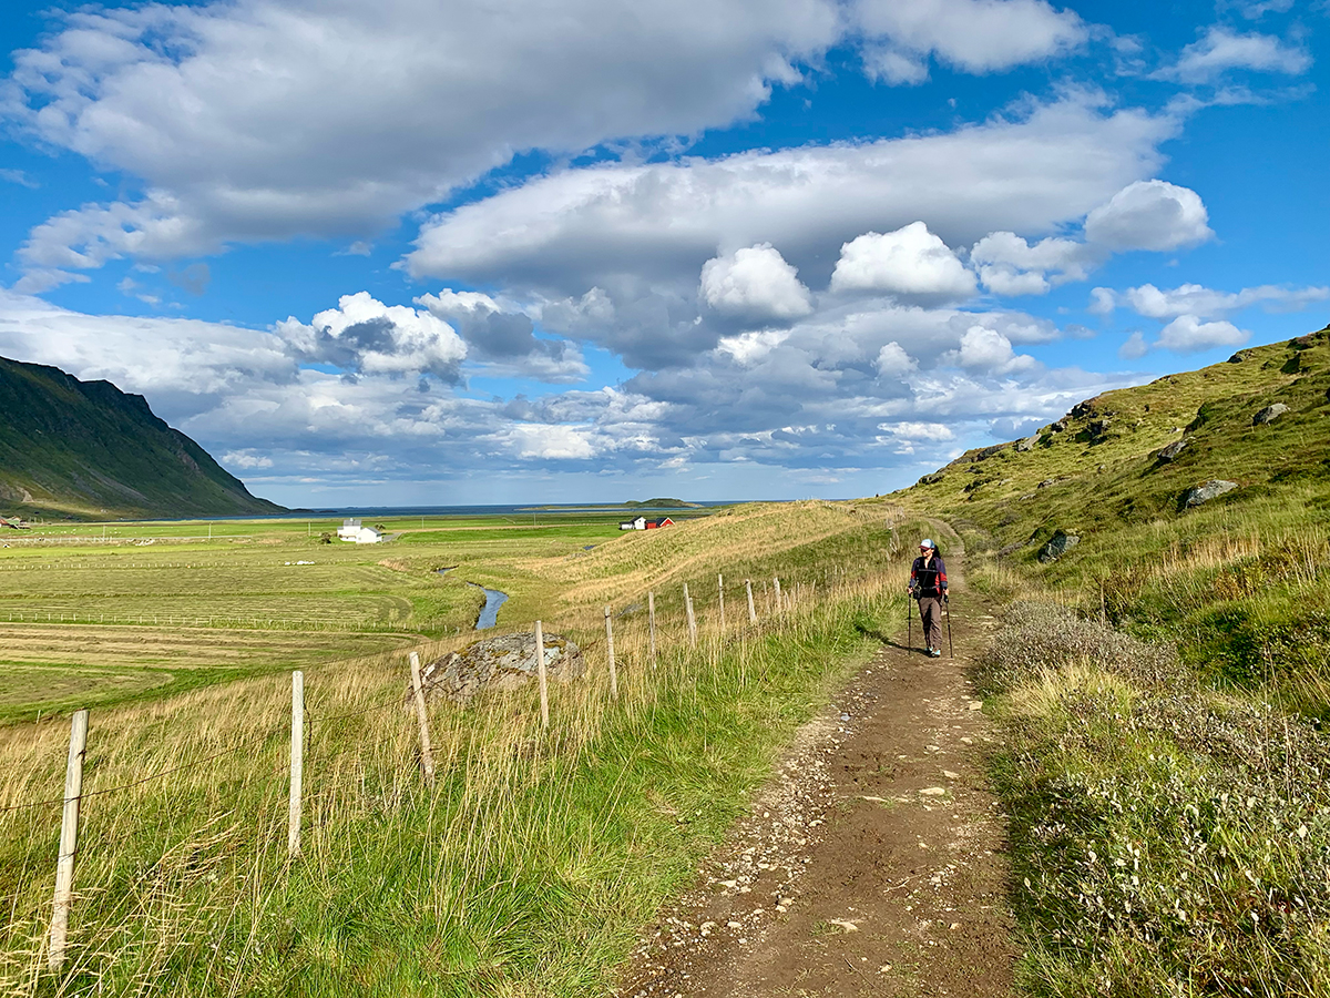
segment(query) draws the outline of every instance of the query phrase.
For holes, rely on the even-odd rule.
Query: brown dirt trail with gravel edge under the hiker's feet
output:
[[[951,604],[955,657],[883,636],[662,913],[622,998],[1011,993],[1003,821],[982,768],[994,736],[966,677],[996,621],[960,585]]]

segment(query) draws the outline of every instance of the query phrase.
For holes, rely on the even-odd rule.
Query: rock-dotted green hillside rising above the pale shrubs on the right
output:
[[[1269,406],[1287,406],[1258,423]],[[1181,443],[1165,459],[1160,451]],[[1021,450],[1024,446],[1028,450]],[[1107,393],[1025,443],[970,451],[910,490],[1003,571],[1144,636],[1208,676],[1330,719],[1330,327]],[[1233,488],[1200,506],[1206,482]],[[1057,532],[1079,538],[1040,563]]]

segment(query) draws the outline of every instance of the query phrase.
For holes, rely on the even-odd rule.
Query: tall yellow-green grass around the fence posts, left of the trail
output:
[[[704,621],[697,649],[662,620],[654,668],[642,623],[624,621],[618,701],[571,609],[547,629],[588,645],[591,672],[553,691],[551,729],[531,691],[436,707],[432,793],[400,660],[323,667],[294,864],[285,677],[94,712],[85,792],[189,768],[86,801],[60,979],[43,970],[59,805],[0,813],[0,993],[602,994],[794,728],[875,648],[864,633],[899,620],[898,588],[823,579],[758,628]],[[61,786],[65,735],[0,729],[0,806]]]

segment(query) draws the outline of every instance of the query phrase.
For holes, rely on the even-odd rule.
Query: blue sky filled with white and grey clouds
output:
[[[1323,0],[9,8],[0,354],[286,504],[871,495],[1330,318]]]

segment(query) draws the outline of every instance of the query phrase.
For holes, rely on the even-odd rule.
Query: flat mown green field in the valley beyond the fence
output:
[[[535,519],[535,526],[532,526]],[[0,542],[0,720],[176,693],[466,633],[484,596],[535,611],[531,564],[620,536],[618,514],[43,524]],[[301,563],[307,564],[301,564]],[[439,568],[450,568],[446,575]],[[531,619],[529,616],[527,619]]]

